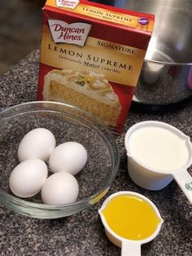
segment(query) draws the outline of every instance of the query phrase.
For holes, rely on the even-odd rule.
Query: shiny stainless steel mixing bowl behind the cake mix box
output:
[[[172,104],[192,95],[192,1],[98,0],[155,14],[155,28],[133,101]]]

